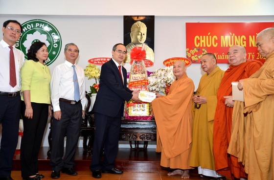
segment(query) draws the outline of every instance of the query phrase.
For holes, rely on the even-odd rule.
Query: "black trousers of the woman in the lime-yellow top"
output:
[[[20,155],[22,177],[29,177],[38,173],[38,154],[48,118],[48,104],[32,102],[31,106],[33,117],[28,119],[24,116],[25,103],[22,101],[21,115],[24,126]]]

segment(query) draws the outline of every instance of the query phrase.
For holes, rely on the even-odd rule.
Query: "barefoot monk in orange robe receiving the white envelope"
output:
[[[177,169],[168,175],[180,174],[189,178],[191,134],[192,134],[192,97],[193,81],[187,77],[183,61],[176,61],[173,74],[176,80],[170,86],[167,96],[157,93],[152,108],[161,141],[160,165]],[[158,147],[159,148],[159,147]]]

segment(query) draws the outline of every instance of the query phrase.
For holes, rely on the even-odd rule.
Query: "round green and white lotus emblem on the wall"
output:
[[[30,20],[22,24],[22,35],[15,46],[22,50],[27,59],[26,53],[29,47],[36,41],[46,44],[48,57],[46,65],[52,64],[60,54],[62,40],[57,28],[45,20]]]

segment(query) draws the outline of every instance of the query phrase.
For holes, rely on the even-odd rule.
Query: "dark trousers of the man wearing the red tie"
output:
[[[18,142],[21,99],[19,96],[0,95],[0,178],[9,177],[12,169],[13,155]]]

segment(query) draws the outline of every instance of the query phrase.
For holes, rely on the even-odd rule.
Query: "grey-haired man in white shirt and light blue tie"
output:
[[[51,77],[51,103],[53,121],[51,126],[51,178],[60,178],[60,171],[77,175],[73,169],[74,154],[80,135],[82,117],[85,110],[85,74],[82,67],[75,64],[79,49],[69,43],[65,46],[65,63],[54,68]],[[67,134],[64,159],[64,137]]]

